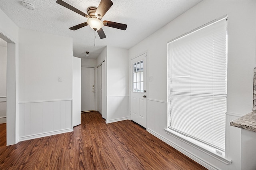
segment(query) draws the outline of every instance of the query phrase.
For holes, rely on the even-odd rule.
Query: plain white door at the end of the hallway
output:
[[[95,110],[94,68],[81,68],[81,111]]]

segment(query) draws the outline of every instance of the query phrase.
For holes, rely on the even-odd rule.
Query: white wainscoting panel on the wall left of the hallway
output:
[[[19,104],[19,139],[73,131],[72,99]]]

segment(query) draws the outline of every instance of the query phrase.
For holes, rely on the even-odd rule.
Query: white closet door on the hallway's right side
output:
[[[102,114],[102,66],[97,69],[98,112]]]

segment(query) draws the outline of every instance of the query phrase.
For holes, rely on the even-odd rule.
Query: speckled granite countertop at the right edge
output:
[[[230,126],[256,132],[256,111],[231,121]]]

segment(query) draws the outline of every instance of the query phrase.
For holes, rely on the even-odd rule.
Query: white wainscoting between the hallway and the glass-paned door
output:
[[[106,123],[129,119],[129,96],[108,96]]]

